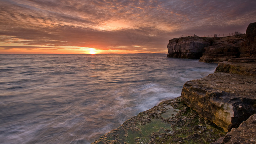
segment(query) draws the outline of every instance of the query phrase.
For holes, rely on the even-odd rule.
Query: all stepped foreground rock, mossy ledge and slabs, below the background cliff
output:
[[[186,82],[180,97],[143,111],[93,144],[256,143],[255,70],[255,63],[220,62],[215,73]]]

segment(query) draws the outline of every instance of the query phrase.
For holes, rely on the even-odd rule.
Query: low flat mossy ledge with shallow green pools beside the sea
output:
[[[125,121],[93,144],[211,143],[225,132],[201,118],[180,97],[161,102]]]

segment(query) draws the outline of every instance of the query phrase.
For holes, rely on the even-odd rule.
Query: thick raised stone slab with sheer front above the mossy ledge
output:
[[[184,84],[182,101],[225,132],[256,113],[256,77],[213,73]]]

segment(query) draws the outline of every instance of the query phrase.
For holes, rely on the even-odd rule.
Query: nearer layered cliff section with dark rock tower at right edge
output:
[[[214,40],[205,50],[200,62],[256,63],[256,22],[249,24],[245,35],[222,37]]]

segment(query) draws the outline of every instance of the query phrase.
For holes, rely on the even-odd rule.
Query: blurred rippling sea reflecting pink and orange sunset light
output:
[[[0,143],[91,143],[217,64],[167,54],[1,54]]]

